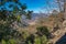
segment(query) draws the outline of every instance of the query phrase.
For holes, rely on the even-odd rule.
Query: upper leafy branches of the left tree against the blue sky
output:
[[[12,2],[12,3],[9,3]],[[9,3],[9,6],[6,6],[6,3]],[[20,8],[18,7],[20,6]],[[2,8],[1,8],[2,7]],[[26,18],[31,18],[32,11],[25,11],[26,10],[26,4],[19,2],[19,0],[1,0],[1,10],[0,10],[0,20],[7,20],[7,19],[12,19],[14,21],[18,20],[20,21],[21,15],[25,15]],[[7,7],[10,9],[12,8],[12,11],[7,10]],[[19,15],[16,15],[19,14]]]

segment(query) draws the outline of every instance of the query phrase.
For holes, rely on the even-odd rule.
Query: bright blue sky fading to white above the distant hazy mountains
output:
[[[47,1],[50,3],[47,3]],[[56,3],[54,3],[54,0],[20,0],[20,2],[26,3],[28,10],[31,10],[34,13],[47,13],[48,11],[52,12],[53,10],[58,10]],[[9,3],[6,3],[6,6],[9,6]]]

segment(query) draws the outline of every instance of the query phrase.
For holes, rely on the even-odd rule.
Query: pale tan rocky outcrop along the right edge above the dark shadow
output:
[[[63,22],[62,29],[53,33],[53,35],[55,36],[50,40],[50,43],[55,44],[63,35],[65,35],[65,33],[66,33],[66,20]]]

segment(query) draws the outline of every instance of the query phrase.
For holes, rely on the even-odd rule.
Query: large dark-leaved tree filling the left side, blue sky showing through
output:
[[[9,6],[7,6],[7,3]],[[8,8],[8,9],[7,9]],[[10,10],[11,9],[11,10]],[[0,41],[21,36],[16,30],[13,30],[13,22],[21,22],[21,15],[31,19],[32,11],[25,11],[26,4],[19,0],[0,0]]]

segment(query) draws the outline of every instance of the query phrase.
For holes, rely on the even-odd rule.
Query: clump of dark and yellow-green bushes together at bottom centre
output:
[[[25,44],[47,44],[50,35],[47,28],[40,26],[36,29],[37,29],[36,34],[30,34],[28,36],[26,34],[23,35],[24,37],[26,36]]]

